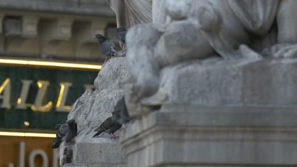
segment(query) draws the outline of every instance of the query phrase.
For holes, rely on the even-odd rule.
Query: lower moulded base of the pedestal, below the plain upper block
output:
[[[122,132],[128,167],[297,166],[297,108],[164,105]]]

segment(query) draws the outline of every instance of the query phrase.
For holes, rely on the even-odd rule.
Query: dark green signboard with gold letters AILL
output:
[[[98,70],[0,66],[0,128],[54,129]]]

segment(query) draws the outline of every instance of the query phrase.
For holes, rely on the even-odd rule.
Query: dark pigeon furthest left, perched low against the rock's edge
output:
[[[66,121],[66,123],[63,125],[57,124],[56,128],[57,127],[59,127],[59,131],[56,134],[55,140],[53,141],[52,148],[58,148],[63,141],[71,141],[77,133],[77,124],[73,119]]]

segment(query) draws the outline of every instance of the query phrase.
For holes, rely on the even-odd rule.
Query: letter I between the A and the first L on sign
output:
[[[21,80],[22,86],[21,86],[21,95],[17,101],[17,109],[26,109],[26,100],[28,97],[28,92],[30,85],[32,83],[32,80]]]

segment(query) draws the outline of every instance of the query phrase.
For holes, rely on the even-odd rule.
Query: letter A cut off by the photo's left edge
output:
[[[0,86],[0,94],[3,92],[3,95],[0,95],[0,99],[3,99],[1,108],[10,109],[10,79],[6,78],[3,84]]]

